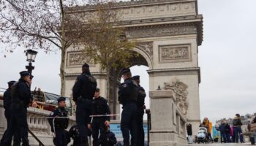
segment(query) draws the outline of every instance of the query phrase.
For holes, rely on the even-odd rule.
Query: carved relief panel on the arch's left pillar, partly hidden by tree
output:
[[[84,63],[89,64],[89,66],[94,66],[94,62],[84,56],[81,51],[67,53],[67,67],[78,67],[82,66]]]

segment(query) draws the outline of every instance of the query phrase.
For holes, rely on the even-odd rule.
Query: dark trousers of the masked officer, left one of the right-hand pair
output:
[[[121,132],[124,138],[124,146],[129,145],[129,134],[131,134],[132,146],[137,144],[136,126],[137,105],[135,103],[125,104],[121,113]]]

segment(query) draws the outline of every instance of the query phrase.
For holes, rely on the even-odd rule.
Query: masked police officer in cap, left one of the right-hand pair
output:
[[[132,73],[129,69],[121,72],[124,82],[119,85],[118,100],[123,104],[121,113],[121,132],[124,138],[124,146],[129,145],[129,133],[131,134],[132,146],[137,145],[136,112],[138,87],[132,81]]]

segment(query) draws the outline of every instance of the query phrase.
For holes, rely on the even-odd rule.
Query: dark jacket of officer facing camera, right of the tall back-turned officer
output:
[[[94,98],[92,115],[109,115],[110,113],[107,99],[101,96]],[[106,117],[106,120],[110,121],[110,117]]]

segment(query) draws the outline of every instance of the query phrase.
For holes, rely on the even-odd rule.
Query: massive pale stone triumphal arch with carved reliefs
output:
[[[200,123],[198,46],[203,41],[203,16],[198,15],[197,0],[143,0],[119,2],[117,7],[124,15],[124,26],[128,39],[137,39],[134,51],[139,58],[131,60],[133,65],[148,66],[149,90],[173,90],[178,97],[176,104],[192,123],[193,132]],[[91,7],[81,7],[91,9]],[[66,96],[70,96],[75,78],[81,73],[79,51],[67,50]],[[105,72],[99,64],[90,64],[97,78],[101,93],[106,94]],[[113,71],[110,88],[110,107],[119,112],[116,99],[116,82],[120,81],[120,70]],[[176,97],[176,98],[177,98]],[[171,106],[171,105],[170,105]],[[151,108],[154,107],[151,103]],[[157,107],[154,107],[157,108]]]

